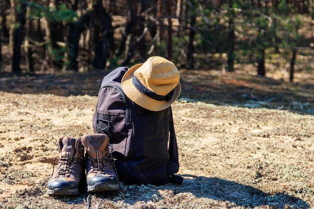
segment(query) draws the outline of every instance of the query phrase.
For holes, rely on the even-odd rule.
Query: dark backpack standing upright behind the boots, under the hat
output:
[[[150,111],[133,103],[121,89],[127,67],[106,75],[93,115],[94,133],[109,136],[119,179],[126,184],[182,184],[171,106]]]

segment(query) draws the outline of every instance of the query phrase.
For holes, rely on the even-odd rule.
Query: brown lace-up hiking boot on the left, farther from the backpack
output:
[[[49,195],[79,194],[79,182],[84,173],[84,146],[81,139],[68,136],[57,140],[59,162],[47,184]]]

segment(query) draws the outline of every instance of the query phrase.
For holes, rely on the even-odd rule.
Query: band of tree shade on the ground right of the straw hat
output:
[[[181,84],[179,100],[314,114],[314,84],[217,71],[184,71]]]

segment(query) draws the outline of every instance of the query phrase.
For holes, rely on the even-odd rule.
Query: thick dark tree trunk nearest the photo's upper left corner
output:
[[[11,46],[12,46],[12,72],[18,74],[21,72],[21,45],[23,40],[23,28],[25,25],[27,5],[21,3],[21,10],[19,13],[16,11],[15,0],[11,0],[11,11],[14,24],[19,23],[19,27],[11,28]]]

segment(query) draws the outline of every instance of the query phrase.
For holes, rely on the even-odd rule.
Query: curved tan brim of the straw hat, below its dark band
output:
[[[158,101],[154,100],[145,94],[141,93],[136,89],[136,87],[132,84],[132,77],[135,72],[143,63],[134,65],[129,68],[124,74],[121,80],[122,90],[125,95],[132,100],[135,104],[151,111],[161,111],[172,105],[180,96],[181,93],[181,84],[180,82],[174,88],[174,94],[169,101]]]

